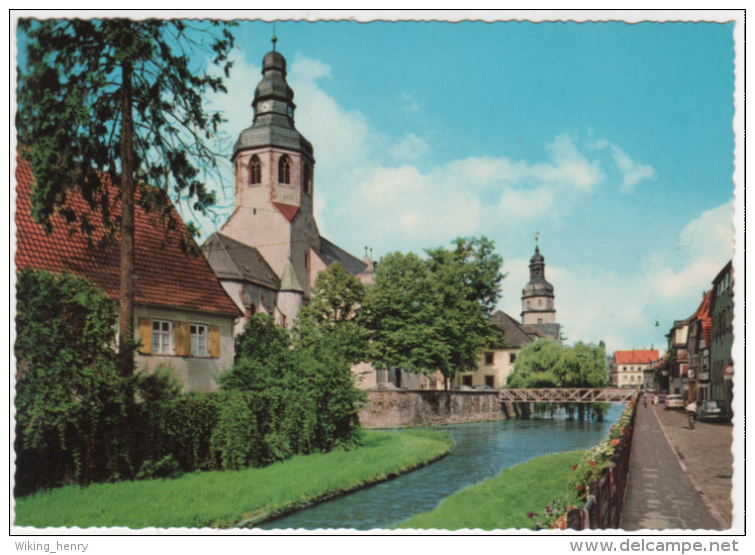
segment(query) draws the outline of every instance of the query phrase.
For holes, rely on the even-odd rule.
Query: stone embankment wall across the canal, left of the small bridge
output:
[[[367,406],[359,413],[365,428],[461,424],[507,417],[497,391],[372,390],[367,397]]]

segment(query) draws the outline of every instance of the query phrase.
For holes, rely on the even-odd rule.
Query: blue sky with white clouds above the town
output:
[[[733,255],[733,31],[279,21],[320,233],[375,259],[485,235],[507,274],[498,307],[516,318],[539,234],[568,344],[663,349]],[[228,157],[272,32],[234,30],[228,94],[210,100]],[[233,210],[224,168],[205,236]]]

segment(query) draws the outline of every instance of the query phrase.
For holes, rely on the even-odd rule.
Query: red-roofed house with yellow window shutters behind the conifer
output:
[[[111,215],[120,218],[117,187],[104,176],[114,199]],[[34,177],[21,157],[16,169],[16,270],[70,273],[88,279],[114,301],[120,296],[120,242],[109,237],[98,213],[78,193],[67,209],[86,215],[92,232],[83,234],[56,214],[46,233],[31,216]],[[187,243],[188,242],[188,243]],[[188,244],[189,248],[186,248]],[[192,248],[193,247],[193,248]],[[193,252],[192,252],[193,251]],[[185,391],[212,391],[217,377],[233,364],[233,326],[241,312],[223,289],[171,206],[161,217],[137,203],[134,241],[134,332],[141,346],[138,371],[170,367]]]

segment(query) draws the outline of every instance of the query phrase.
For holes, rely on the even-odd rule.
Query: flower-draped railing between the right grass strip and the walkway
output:
[[[624,497],[629,475],[629,458],[632,454],[634,420],[637,402],[632,409],[629,429],[613,452],[612,464],[603,470],[600,478],[588,486],[587,502],[581,508],[567,513],[566,526],[574,530],[604,530],[618,528],[624,509]]]

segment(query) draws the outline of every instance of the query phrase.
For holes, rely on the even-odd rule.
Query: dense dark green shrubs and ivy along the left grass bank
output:
[[[64,485],[260,467],[356,447],[364,394],[333,342],[291,348],[255,315],[222,390],[181,394],[169,368],[124,377],[116,307],[70,275],[17,284],[15,495]]]

